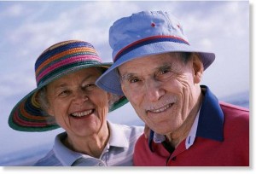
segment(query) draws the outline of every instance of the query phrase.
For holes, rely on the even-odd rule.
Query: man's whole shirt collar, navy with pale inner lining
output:
[[[195,141],[195,136],[201,136],[216,141],[223,141],[224,113],[219,106],[218,99],[212,94],[212,91],[206,85],[201,85],[201,91],[204,99],[201,109],[195,117],[194,124],[186,138],[186,148],[188,149]],[[160,143],[166,140],[166,137],[150,132],[148,138],[149,148],[152,150],[151,142]]]

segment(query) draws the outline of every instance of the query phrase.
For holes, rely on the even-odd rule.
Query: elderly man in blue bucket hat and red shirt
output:
[[[124,94],[152,130],[135,165],[249,165],[249,111],[200,84],[215,55],[193,48],[172,14],[132,14],[109,34],[113,65],[96,84]]]

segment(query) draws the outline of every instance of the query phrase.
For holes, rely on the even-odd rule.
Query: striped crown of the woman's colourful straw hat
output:
[[[102,62],[91,44],[77,41],[55,44],[46,49],[36,62],[37,84],[43,83],[50,77],[55,77],[56,74],[60,75],[63,70],[67,71],[68,68],[73,68],[87,61],[90,63]]]

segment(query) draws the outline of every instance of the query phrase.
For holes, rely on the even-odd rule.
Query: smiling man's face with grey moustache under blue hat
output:
[[[157,133],[177,131],[197,102],[199,82],[193,60],[184,63],[182,54],[168,53],[144,56],[119,67],[125,96]]]

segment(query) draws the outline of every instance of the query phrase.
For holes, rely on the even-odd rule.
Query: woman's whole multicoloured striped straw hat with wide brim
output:
[[[50,131],[59,128],[55,119],[44,113],[37,101],[37,94],[45,85],[57,78],[87,67],[105,67],[112,63],[102,63],[96,49],[90,43],[68,40],[54,44],[38,57],[35,63],[37,88],[20,100],[9,115],[9,126],[17,131]],[[128,101],[120,96],[110,111],[123,106]]]

